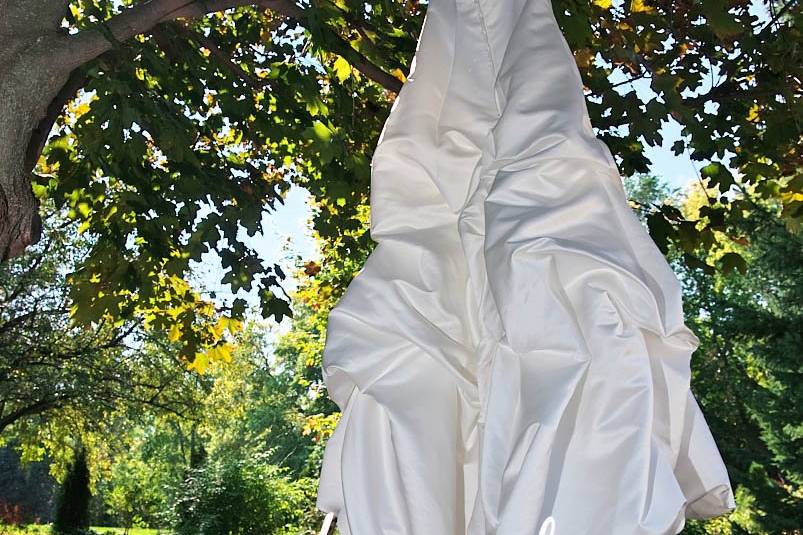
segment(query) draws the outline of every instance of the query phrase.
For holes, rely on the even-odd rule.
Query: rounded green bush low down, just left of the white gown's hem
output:
[[[266,454],[207,460],[188,470],[171,524],[176,535],[303,533],[314,522],[308,510],[314,488],[311,479],[290,480]]]

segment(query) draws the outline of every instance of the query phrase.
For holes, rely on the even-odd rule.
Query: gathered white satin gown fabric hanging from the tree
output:
[[[433,0],[329,316],[343,535],[670,534],[734,507],[698,340],[549,0]],[[551,521],[550,521],[551,522]]]

